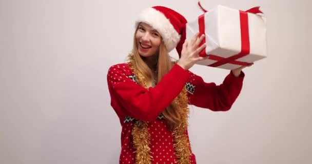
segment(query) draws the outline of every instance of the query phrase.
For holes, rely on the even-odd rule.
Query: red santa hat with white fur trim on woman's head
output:
[[[163,38],[163,42],[168,50],[177,49],[179,56],[181,55],[182,45],[185,40],[185,25],[187,20],[180,13],[163,6],[154,6],[144,9],[135,26],[144,22],[157,30]]]

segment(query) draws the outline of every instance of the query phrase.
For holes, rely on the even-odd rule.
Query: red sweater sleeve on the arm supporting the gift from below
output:
[[[202,77],[192,74],[189,104],[212,111],[229,110],[241,92],[244,76],[243,72],[239,77],[230,72],[223,83],[217,86],[215,83],[205,83]]]

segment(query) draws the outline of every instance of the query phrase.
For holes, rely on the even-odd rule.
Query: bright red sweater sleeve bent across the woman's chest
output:
[[[122,67],[112,66],[107,74],[107,83],[112,99],[112,107],[117,113],[123,113],[143,121],[153,121],[178,96],[190,72],[175,64],[154,87],[145,89],[127,76]]]

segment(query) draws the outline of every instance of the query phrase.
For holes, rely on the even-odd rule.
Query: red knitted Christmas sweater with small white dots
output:
[[[134,163],[132,125],[134,119],[149,121],[152,163],[175,163],[172,134],[167,129],[161,112],[186,87],[188,104],[212,111],[227,111],[238,97],[243,85],[240,77],[229,73],[223,84],[205,83],[202,77],[175,64],[161,81],[148,90],[136,84],[136,78],[128,64],[109,68],[107,74],[111,106],[122,125],[120,163]],[[187,131],[186,131],[187,134]],[[191,163],[196,163],[192,154]]]

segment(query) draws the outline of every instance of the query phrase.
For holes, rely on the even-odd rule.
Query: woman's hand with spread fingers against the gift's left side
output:
[[[177,64],[185,70],[190,69],[195,63],[197,63],[197,61],[208,58],[208,56],[199,56],[199,53],[206,47],[206,44],[198,47],[205,38],[204,34],[200,37],[198,37],[198,35],[199,33],[196,33],[189,42],[185,40],[183,44],[181,58]]]

